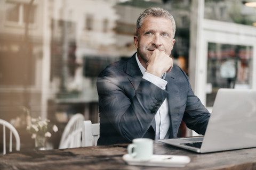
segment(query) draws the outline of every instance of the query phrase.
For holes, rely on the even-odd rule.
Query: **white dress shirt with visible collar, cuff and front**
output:
[[[142,66],[142,64],[139,61],[139,58],[136,54],[136,61],[140,67],[140,71],[143,74],[143,79],[150,81],[151,83],[154,83],[159,88],[165,90],[167,81],[165,81],[166,73],[163,74],[162,79],[146,72],[146,69]],[[168,103],[167,98],[164,100],[163,104],[159,107],[156,115],[156,137],[155,139],[166,139],[169,138],[170,132],[170,115],[168,112]]]

